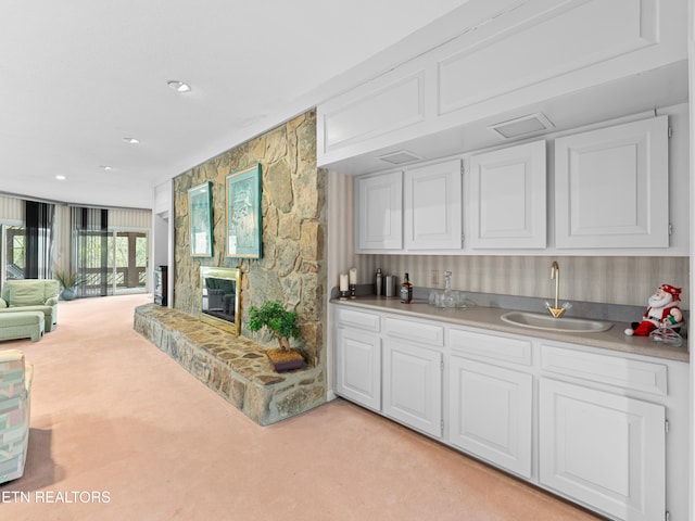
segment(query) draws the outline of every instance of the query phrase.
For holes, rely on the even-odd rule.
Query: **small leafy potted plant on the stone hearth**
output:
[[[290,348],[290,339],[300,338],[295,312],[285,309],[280,301],[266,301],[261,307],[251,306],[249,317],[248,327],[251,331],[266,328],[277,339],[279,347],[267,351],[276,371],[290,371],[302,367],[302,354]]]

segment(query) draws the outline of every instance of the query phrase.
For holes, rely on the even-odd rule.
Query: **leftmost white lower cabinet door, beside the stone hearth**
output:
[[[372,333],[339,329],[336,393],[381,410],[381,339]]]

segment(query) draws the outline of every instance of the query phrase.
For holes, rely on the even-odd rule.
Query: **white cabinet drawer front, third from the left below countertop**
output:
[[[477,358],[511,361],[531,365],[531,341],[475,333],[460,329],[450,329],[448,342],[452,352],[475,355]]]

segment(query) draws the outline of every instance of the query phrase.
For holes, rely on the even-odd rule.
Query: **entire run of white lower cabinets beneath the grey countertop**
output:
[[[687,363],[336,309],[340,396],[608,519],[688,519]]]

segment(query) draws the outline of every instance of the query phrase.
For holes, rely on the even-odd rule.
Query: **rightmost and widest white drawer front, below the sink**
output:
[[[541,367],[544,371],[616,387],[668,394],[667,367],[661,364],[542,345]]]

